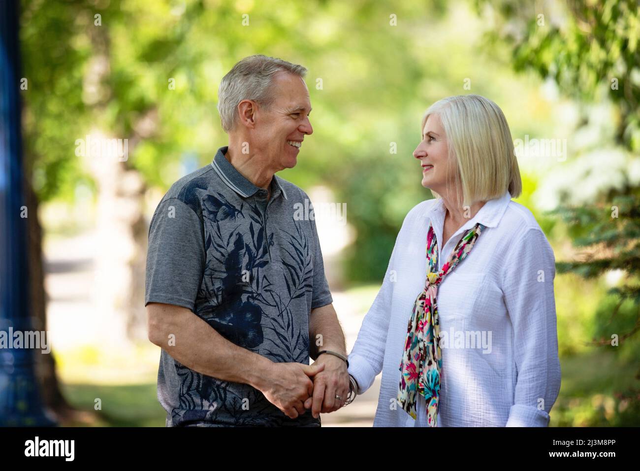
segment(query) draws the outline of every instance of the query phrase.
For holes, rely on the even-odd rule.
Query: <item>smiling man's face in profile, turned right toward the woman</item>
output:
[[[266,155],[275,172],[291,169],[298,163],[298,153],[305,135],[314,132],[308,115],[311,101],[305,81],[294,74],[278,72],[271,82],[273,102],[260,108],[254,129],[253,145]],[[295,145],[292,145],[293,142]]]

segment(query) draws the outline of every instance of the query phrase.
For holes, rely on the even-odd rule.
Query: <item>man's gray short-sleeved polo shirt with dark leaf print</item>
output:
[[[273,176],[271,198],[229,163],[179,179],[149,228],[145,306],[187,308],[244,349],[275,362],[309,364],[309,315],[332,300],[307,194]],[[301,206],[300,206],[301,204]],[[176,338],[175,342],[180,339]],[[319,424],[310,411],[287,417],[248,384],[189,369],[161,351],[158,400],[167,426]]]

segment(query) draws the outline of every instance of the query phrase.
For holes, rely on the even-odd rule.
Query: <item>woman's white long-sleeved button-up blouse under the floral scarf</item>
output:
[[[382,371],[374,427],[427,426],[397,404],[399,366],[413,302],[426,279],[429,220],[438,269],[463,234],[486,229],[465,260],[438,286],[442,372],[438,426],[546,427],[560,390],[555,256],[536,219],[511,194],[487,201],[442,245],[442,199],[423,201],[404,219],[380,292],[349,354],[349,373],[364,393]],[[357,400],[357,399],[356,399]]]

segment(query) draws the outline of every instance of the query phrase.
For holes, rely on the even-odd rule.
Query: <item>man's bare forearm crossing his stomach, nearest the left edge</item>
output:
[[[229,342],[188,309],[150,303],[147,317],[149,340],[182,365],[225,381],[263,386],[271,360]]]

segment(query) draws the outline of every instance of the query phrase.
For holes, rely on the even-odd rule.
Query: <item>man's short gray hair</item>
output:
[[[245,57],[222,78],[218,88],[218,113],[225,133],[236,128],[238,104],[253,100],[268,107],[275,97],[269,90],[276,72],[289,72],[304,77],[307,69],[282,59],[262,54]]]

